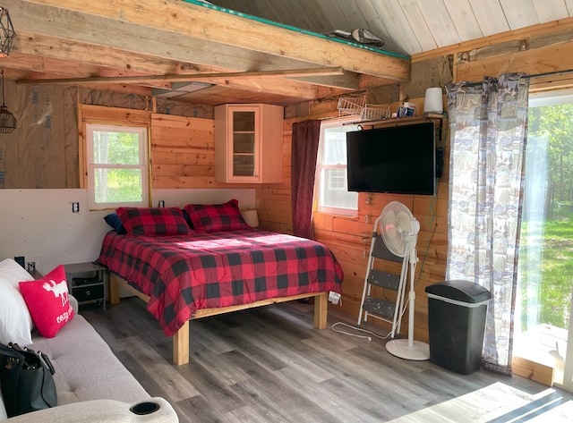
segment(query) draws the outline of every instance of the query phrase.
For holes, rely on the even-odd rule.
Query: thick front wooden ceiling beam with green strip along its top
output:
[[[27,1],[20,3],[31,4]],[[58,12],[67,9],[80,13],[83,15],[81,23],[84,28],[85,21],[90,21],[91,16],[114,20],[115,32],[121,37],[124,37],[124,26],[132,23],[143,29],[162,32],[167,32],[167,28],[169,32],[180,36],[196,38],[194,44],[197,40],[215,42],[246,51],[315,63],[318,66],[343,66],[353,72],[382,78],[409,78],[409,60],[405,58],[375,53],[178,0],[148,0],[137,4],[131,0],[36,0],[34,4],[51,6]],[[269,39],[273,42],[269,43]],[[141,40],[136,44],[145,47]]]

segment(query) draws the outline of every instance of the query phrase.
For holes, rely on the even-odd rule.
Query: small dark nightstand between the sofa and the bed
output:
[[[106,309],[107,267],[90,261],[64,265],[68,290],[79,305],[98,303]]]

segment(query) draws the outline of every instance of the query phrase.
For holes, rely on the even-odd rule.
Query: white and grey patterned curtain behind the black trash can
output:
[[[446,278],[492,292],[483,367],[511,374],[517,245],[529,79],[508,73],[449,84],[449,250]]]

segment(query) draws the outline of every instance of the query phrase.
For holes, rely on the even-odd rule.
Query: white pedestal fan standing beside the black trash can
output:
[[[409,273],[410,291],[407,301],[404,292],[401,292],[398,311],[398,328],[402,315],[408,309],[408,338],[392,339],[386,343],[386,350],[390,354],[406,360],[429,360],[430,346],[427,343],[414,340],[414,311],[415,311],[415,265],[418,257],[415,244],[418,241],[420,223],[412,215],[408,207],[399,201],[390,202],[382,210],[381,235],[388,250],[403,258],[400,285],[406,290]]]

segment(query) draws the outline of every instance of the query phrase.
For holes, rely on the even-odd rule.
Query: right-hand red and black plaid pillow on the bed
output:
[[[189,215],[193,229],[197,233],[237,231],[251,228],[241,216],[239,202],[236,199],[230,199],[223,204],[188,204],[184,210]]]

